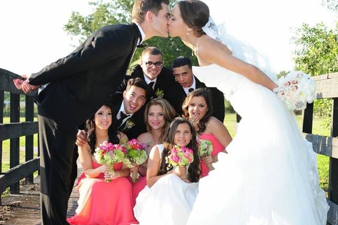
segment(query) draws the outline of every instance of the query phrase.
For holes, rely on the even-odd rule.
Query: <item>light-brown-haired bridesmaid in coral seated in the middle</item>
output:
[[[155,145],[162,144],[165,131],[174,118],[175,110],[170,105],[169,101],[162,98],[152,99],[147,104],[144,113],[144,121],[148,132],[139,135],[137,140],[141,143],[149,143],[148,150],[151,150]],[[138,169],[141,176],[136,183],[133,183],[134,202],[136,202],[136,198],[140,191],[147,185],[146,166],[141,165],[135,169]]]

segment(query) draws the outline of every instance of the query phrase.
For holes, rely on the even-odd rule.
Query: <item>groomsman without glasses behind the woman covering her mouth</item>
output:
[[[186,57],[177,57],[172,63],[172,70],[177,82],[170,88],[168,100],[174,107],[176,113],[182,115],[182,104],[185,97],[194,89],[203,88],[206,87],[206,85],[192,74],[191,61]],[[213,94],[213,116],[223,122],[225,116],[224,94],[216,87],[207,88],[209,88]]]

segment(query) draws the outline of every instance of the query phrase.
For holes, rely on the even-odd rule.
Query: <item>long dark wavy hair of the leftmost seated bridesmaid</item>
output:
[[[108,107],[113,114],[113,107],[109,103],[104,103],[104,106]],[[95,112],[96,113],[96,112]],[[100,143],[96,143],[96,135],[95,135],[95,122],[94,122],[94,115],[90,117],[85,122],[85,131],[87,132],[87,140],[88,140],[88,145],[90,147],[90,154],[93,155],[95,152],[95,146],[97,146]],[[111,125],[108,128],[108,138],[109,142],[112,144],[119,144],[119,138],[117,137],[118,132],[115,129],[115,125],[113,121],[111,121]]]

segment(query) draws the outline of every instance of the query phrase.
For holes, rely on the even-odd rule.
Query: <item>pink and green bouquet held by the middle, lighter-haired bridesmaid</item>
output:
[[[147,144],[140,143],[136,139],[132,139],[126,144],[122,146],[123,149],[125,149],[125,160],[124,163],[128,167],[132,167],[133,164],[141,165],[143,164],[147,158]],[[132,181],[135,183],[137,181],[137,171],[132,171]]]

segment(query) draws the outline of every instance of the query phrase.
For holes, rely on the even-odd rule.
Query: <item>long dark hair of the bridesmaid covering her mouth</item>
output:
[[[207,104],[207,112],[205,113],[205,115],[203,116],[202,119],[200,119],[198,125],[197,125],[197,133],[199,135],[202,134],[203,131],[205,131],[205,128],[206,128],[206,123],[209,122],[210,120],[210,117],[212,116],[212,113],[213,113],[213,106],[212,106],[212,93],[209,89],[207,88],[198,88],[198,89],[195,89],[193,91],[190,92],[190,94],[188,96],[186,96],[183,104],[182,104],[182,110],[183,110],[183,116],[184,118],[188,119],[189,118],[189,112],[188,112],[188,109],[189,109],[189,104],[190,104],[190,101],[193,97],[195,96],[202,96]]]

